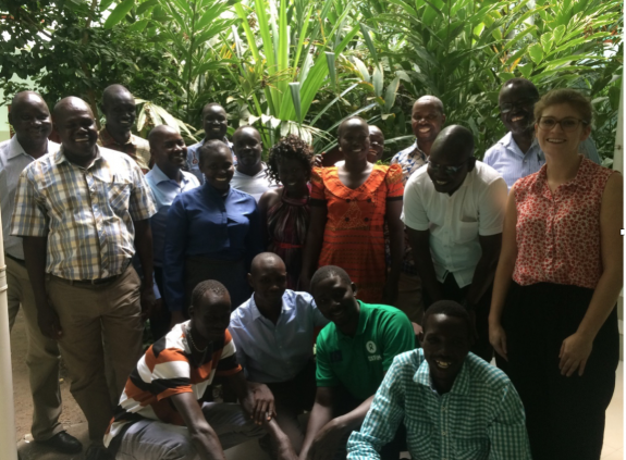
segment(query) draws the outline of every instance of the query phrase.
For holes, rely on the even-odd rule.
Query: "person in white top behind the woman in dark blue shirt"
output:
[[[259,202],[271,184],[266,164],[261,161],[263,145],[261,135],[251,126],[242,126],[233,134],[233,151],[237,157],[231,187],[250,194]]]

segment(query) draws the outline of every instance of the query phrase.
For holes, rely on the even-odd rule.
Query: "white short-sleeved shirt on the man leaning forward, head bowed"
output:
[[[459,287],[471,284],[482,254],[478,236],[502,233],[506,196],[504,179],[480,161],[452,196],[434,189],[426,167],[410,176],[401,219],[409,228],[430,231],[430,251],[441,283],[452,273]]]

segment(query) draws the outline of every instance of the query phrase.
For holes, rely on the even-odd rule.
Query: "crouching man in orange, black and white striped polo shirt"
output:
[[[237,363],[226,330],[226,288],[212,279],[198,284],[189,315],[156,341],[131,373],[105,435],[109,452],[118,459],[223,460],[224,449],[267,431],[279,460],[297,460],[273,420],[271,391],[247,382]],[[226,377],[241,406],[200,401],[214,375]]]

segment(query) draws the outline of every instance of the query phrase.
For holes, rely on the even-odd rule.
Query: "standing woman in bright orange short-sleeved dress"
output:
[[[354,116],[339,127],[345,162],[315,167],[311,174],[310,224],[300,288],[308,290],[318,266],[343,268],[366,303],[393,304],[402,263],[404,226],[402,170],[367,161],[369,127]],[[391,240],[391,270],[384,257],[384,224]]]

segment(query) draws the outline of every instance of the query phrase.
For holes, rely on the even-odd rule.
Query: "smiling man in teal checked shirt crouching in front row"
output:
[[[422,348],[393,360],[347,459],[380,459],[404,420],[414,459],[530,460],[519,396],[502,371],[469,352],[467,311],[441,300],[422,327]]]

